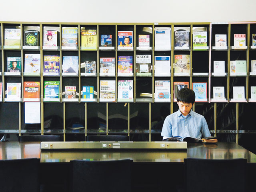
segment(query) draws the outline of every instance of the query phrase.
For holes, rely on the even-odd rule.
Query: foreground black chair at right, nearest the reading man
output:
[[[187,158],[185,189],[187,192],[245,192],[246,159]]]

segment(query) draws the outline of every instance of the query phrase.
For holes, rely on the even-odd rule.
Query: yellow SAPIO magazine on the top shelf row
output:
[[[81,47],[97,48],[97,30],[81,28]]]

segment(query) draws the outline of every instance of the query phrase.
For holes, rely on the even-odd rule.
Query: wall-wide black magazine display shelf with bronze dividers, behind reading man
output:
[[[251,61],[256,60],[256,46],[252,45],[252,34],[256,34],[256,22],[225,22],[225,23],[43,23],[43,22],[0,22],[0,82],[2,93],[6,91],[8,82],[21,82],[21,98],[8,101],[0,98],[0,133],[14,135],[21,134],[60,134],[64,141],[83,141],[87,135],[93,134],[122,134],[130,136],[131,141],[156,141],[160,136],[164,118],[178,110],[174,95],[174,82],[188,82],[192,88],[194,82],[207,83],[207,98],[196,100],[193,110],[205,116],[210,132],[221,136],[223,141],[230,141],[229,135],[234,136],[231,141],[238,143],[242,133],[250,137],[256,130],[246,129],[252,123],[248,120],[252,109],[256,107],[255,99],[251,99],[251,86],[256,86],[256,73],[252,72]],[[24,27],[40,28],[38,46],[24,45]],[[44,27],[58,28],[57,46],[44,45]],[[78,44],[72,47],[62,47],[62,28],[77,27]],[[171,29],[170,48],[155,47],[155,28]],[[175,45],[175,27],[190,28],[189,45],[178,47]],[[207,29],[207,46],[193,46],[193,27]],[[20,28],[20,46],[5,46],[4,29]],[[81,45],[81,28],[94,29],[97,34],[97,46],[83,47]],[[146,30],[145,30],[146,29]],[[132,47],[118,46],[118,31],[133,33]],[[102,47],[100,35],[112,34],[112,46]],[[215,44],[216,34],[226,34],[226,46],[218,47]],[[234,47],[234,34],[246,34],[246,45]],[[149,36],[149,46],[139,46],[138,35]],[[40,54],[40,74],[32,75],[24,72],[24,55]],[[43,71],[44,55],[60,56],[60,73],[48,75]],[[136,71],[136,55],[150,55],[151,69],[149,73]],[[174,72],[174,55],[189,55],[189,73]],[[21,72],[19,74],[7,72],[7,57],[21,57]],[[62,73],[64,56],[78,56],[79,72],[74,74]],[[118,57],[132,56],[132,73],[118,73]],[[155,56],[170,56],[170,72],[155,73]],[[100,73],[100,58],[115,58],[115,73],[109,76]],[[225,71],[214,73],[214,61],[225,61]],[[243,76],[230,75],[230,61],[246,60],[246,72]],[[96,61],[96,72],[86,74],[81,66],[85,61]],[[100,81],[115,81],[115,98],[100,99]],[[133,81],[133,98],[118,98],[118,81]],[[170,81],[170,98],[155,98],[155,81]],[[24,122],[24,91],[25,81],[40,82],[41,123],[25,124]],[[58,99],[44,99],[44,82],[60,81],[60,93],[65,92],[65,86],[76,86],[76,98],[65,99],[60,94]],[[94,98],[82,98],[83,86],[93,86]],[[224,97],[213,97],[213,87],[224,86]],[[233,87],[244,86],[245,98],[233,98]],[[4,97],[4,94],[2,94]],[[10,122],[5,110],[10,111],[13,120]],[[231,122],[226,123],[230,114]],[[246,116],[248,116],[246,118]],[[242,120],[245,118],[245,120]],[[222,126],[224,124],[224,127]],[[10,128],[10,130],[8,130]]]

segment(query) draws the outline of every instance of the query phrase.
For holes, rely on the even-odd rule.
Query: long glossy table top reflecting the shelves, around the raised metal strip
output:
[[[217,144],[188,143],[187,150],[42,150],[40,142],[0,142],[0,159],[40,158],[41,162],[70,162],[70,160],[118,160],[131,158],[134,162],[184,162],[184,158],[233,159],[246,158],[256,163],[256,155],[234,142]]]

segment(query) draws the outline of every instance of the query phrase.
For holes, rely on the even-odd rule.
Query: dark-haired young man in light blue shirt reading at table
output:
[[[161,136],[204,138],[211,136],[204,116],[191,110],[195,102],[195,92],[189,88],[181,89],[177,94],[179,110],[164,120]]]

